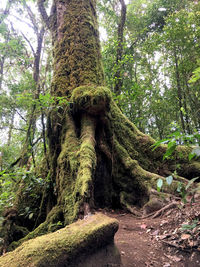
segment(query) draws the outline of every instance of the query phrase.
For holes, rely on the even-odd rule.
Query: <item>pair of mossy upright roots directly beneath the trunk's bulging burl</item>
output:
[[[92,175],[96,166],[95,120],[89,115],[81,118],[81,137],[68,114],[66,133],[58,157],[58,203],[63,206],[64,224],[72,223],[83,213],[82,205],[91,196]]]

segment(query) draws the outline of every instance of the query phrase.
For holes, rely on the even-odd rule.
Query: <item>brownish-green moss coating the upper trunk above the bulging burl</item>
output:
[[[79,0],[63,3],[62,7],[59,5],[59,15],[55,12],[52,18],[52,92],[56,95],[69,96],[84,84],[104,84],[95,5],[94,1]]]

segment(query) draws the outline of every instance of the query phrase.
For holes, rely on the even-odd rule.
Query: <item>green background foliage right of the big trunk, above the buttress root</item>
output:
[[[199,3],[187,0],[132,1],[127,5],[124,55],[117,66],[116,18],[119,13],[117,9],[113,9],[114,13],[107,12],[106,3],[112,10],[113,1],[102,2],[104,9],[100,11],[105,20],[109,17],[108,26],[104,19],[102,24],[108,34],[107,42],[103,43],[104,69],[111,88],[114,88],[116,70],[122,69],[123,86],[116,100],[123,113],[154,138],[165,138],[171,132],[172,122],[179,125],[184,134],[198,130],[198,84],[188,80],[199,67]],[[181,95],[177,93],[177,80]],[[181,113],[185,125],[182,125]]]

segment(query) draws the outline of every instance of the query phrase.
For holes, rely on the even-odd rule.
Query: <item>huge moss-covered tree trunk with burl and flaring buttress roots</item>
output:
[[[49,114],[50,169],[46,220],[23,240],[44,234],[88,215],[96,207],[142,206],[158,178],[181,165],[179,175],[199,174],[188,163],[188,149],[163,162],[165,146],[152,151],[154,140],[141,133],[119,110],[104,84],[95,0],[54,0],[47,16],[52,32],[54,77],[51,93],[59,104]],[[181,178],[180,178],[181,179]],[[45,204],[45,205],[43,205]],[[17,243],[21,243],[23,240]]]

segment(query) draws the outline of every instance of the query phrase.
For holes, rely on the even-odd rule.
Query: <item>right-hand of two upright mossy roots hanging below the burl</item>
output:
[[[90,115],[83,115],[81,120],[81,146],[79,151],[79,169],[76,181],[76,196],[80,197],[83,202],[93,199],[92,175],[96,167],[95,152],[95,119]],[[90,204],[90,203],[88,203]],[[84,210],[87,215],[88,205]]]

